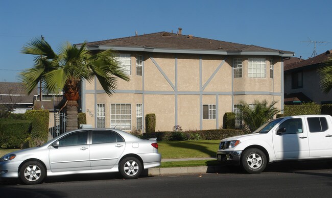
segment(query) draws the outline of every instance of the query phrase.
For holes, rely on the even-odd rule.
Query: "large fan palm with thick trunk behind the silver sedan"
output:
[[[67,131],[77,129],[78,100],[81,81],[91,81],[95,76],[106,93],[111,96],[116,88],[117,78],[129,81],[121,65],[116,61],[116,53],[106,50],[93,54],[86,50],[86,43],[76,47],[66,42],[56,54],[48,42],[35,38],[22,47],[23,54],[36,55],[34,65],[19,74],[28,93],[43,82],[43,91],[56,93],[63,90],[67,100]]]

